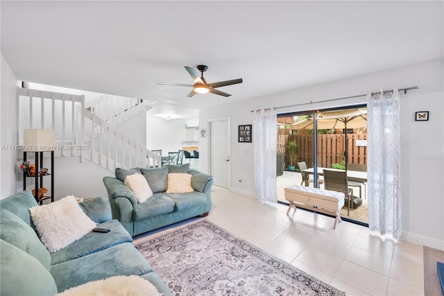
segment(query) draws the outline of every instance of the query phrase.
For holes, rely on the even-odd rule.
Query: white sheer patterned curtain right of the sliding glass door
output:
[[[367,96],[368,227],[401,236],[400,94]]]

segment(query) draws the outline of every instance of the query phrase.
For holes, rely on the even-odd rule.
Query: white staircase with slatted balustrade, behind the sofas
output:
[[[115,168],[160,166],[160,156],[116,129],[152,108],[154,101],[103,95],[85,96],[17,87],[19,141],[23,130],[54,130],[55,157],[80,157],[114,173]],[[102,117],[103,116],[103,117]],[[19,151],[17,159],[22,159]]]

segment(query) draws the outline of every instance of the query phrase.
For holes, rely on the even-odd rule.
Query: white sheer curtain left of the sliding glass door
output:
[[[257,110],[253,121],[255,184],[257,199],[278,202],[276,193],[276,111]]]

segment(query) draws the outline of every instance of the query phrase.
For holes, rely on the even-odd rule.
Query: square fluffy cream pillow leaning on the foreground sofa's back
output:
[[[80,209],[74,195],[51,204],[31,207],[29,212],[40,240],[49,252],[74,243],[96,227],[96,223]]]

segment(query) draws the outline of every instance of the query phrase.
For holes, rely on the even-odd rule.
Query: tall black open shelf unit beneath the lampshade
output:
[[[39,189],[43,187],[43,177],[51,176],[51,196],[45,196],[43,199],[39,200],[38,196],[35,196],[35,200],[42,205],[44,200],[51,199],[51,202],[54,201],[54,151],[24,151],[23,153],[23,161],[26,162],[27,154],[35,153],[35,175],[28,176],[26,172],[23,172],[23,190],[26,190],[26,180],[28,178],[34,178],[35,180],[35,195],[38,195]],[[43,167],[43,153],[51,153],[51,173],[48,175],[38,175],[38,171]]]

